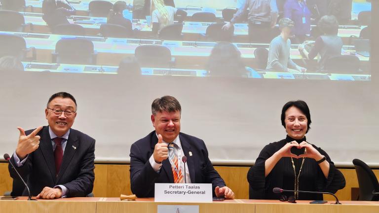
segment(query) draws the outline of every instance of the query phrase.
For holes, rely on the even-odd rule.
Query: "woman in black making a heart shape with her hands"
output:
[[[296,200],[323,200],[322,194],[273,193],[275,187],[331,193],[342,189],[345,178],[329,155],[305,138],[311,123],[307,104],[304,101],[286,103],[281,121],[287,132],[286,138],[266,145],[247,174],[253,190],[252,199],[277,200],[286,195],[294,196]]]

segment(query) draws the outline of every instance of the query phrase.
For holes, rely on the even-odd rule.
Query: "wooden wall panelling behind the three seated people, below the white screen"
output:
[[[12,178],[9,177],[8,164],[0,163],[0,195],[12,189]],[[131,194],[129,165],[96,164],[95,186],[93,193],[96,197],[119,197],[120,194]],[[235,193],[237,199],[249,199],[249,183],[246,175],[249,167],[216,166],[215,169],[224,178],[227,186]],[[351,200],[351,188],[358,187],[354,169],[341,169],[345,179],[345,188],[337,192],[340,200]],[[379,170],[374,170],[379,178]],[[325,200],[333,200],[325,196]]]

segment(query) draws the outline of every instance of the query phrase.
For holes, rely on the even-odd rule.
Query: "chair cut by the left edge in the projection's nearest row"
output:
[[[36,61],[36,48],[27,48],[21,36],[0,34],[0,58],[3,56],[14,56],[20,61]]]

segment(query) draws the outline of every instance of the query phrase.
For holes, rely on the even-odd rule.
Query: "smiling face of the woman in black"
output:
[[[285,112],[286,132],[293,139],[302,139],[308,129],[308,120],[297,107],[291,106]]]

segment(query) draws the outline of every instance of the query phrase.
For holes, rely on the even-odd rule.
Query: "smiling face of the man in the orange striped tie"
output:
[[[157,112],[151,116],[156,134],[162,135],[163,141],[173,142],[180,132],[180,112]]]

